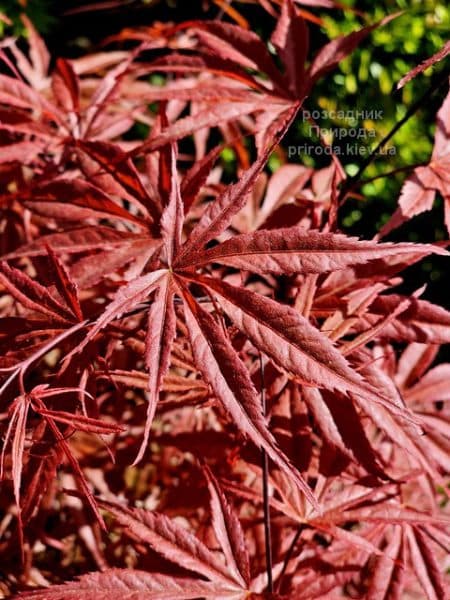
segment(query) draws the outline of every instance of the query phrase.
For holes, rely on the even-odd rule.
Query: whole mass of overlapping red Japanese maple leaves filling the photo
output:
[[[272,51],[203,21],[51,65],[25,24],[0,75],[5,594],[263,597],[264,452],[275,595],[444,598],[450,313],[396,290],[444,245],[339,233],[336,157],[265,171],[377,25],[310,59],[286,1]],[[448,107],[382,233],[446,197]]]

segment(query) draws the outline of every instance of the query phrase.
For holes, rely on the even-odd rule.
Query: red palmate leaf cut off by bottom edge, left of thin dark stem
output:
[[[21,597],[32,600],[70,599],[83,594],[83,598],[117,600],[130,598],[136,600],[171,600],[180,598],[194,600],[199,597],[211,600],[229,599],[243,600],[248,596],[248,556],[239,522],[229,518],[233,515],[230,507],[218,487],[212,473],[207,469],[209,490],[213,509],[213,522],[216,531],[223,532],[229,550],[235,558],[242,558],[244,563],[239,567],[229,565],[231,572],[192,533],[181,527],[164,515],[142,509],[129,509],[119,504],[99,500],[98,504],[110,512],[117,522],[123,526],[132,538],[148,544],[167,560],[188,571],[198,573],[209,581],[191,577],[148,573],[133,569],[107,569],[103,573],[89,573],[79,578],[77,582],[53,586],[49,589],[30,591]],[[219,523],[220,521],[220,523]],[[231,527],[230,537],[225,528]],[[225,549],[227,555],[227,548]],[[242,579],[240,571],[245,573]],[[236,581],[237,580],[237,581]]]

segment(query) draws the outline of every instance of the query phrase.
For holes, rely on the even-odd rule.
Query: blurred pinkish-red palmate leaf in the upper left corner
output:
[[[29,35],[33,37],[31,31]],[[22,81],[17,69],[13,69],[15,77],[0,76],[0,100],[14,117],[12,122],[7,123],[6,129],[19,134],[34,134],[35,141],[39,141],[34,157],[31,147],[28,149],[29,155],[23,157],[27,162],[34,163],[33,166],[45,165],[47,161],[40,156],[45,153],[66,170],[65,167],[69,167],[70,163],[67,159],[73,156],[76,141],[83,138],[113,139],[133,125],[132,113],[136,105],[114,110],[117,108],[114,102],[117,100],[120,104],[117,96],[123,78],[130,71],[134,52],[127,53],[125,57],[122,55],[123,60],[118,64],[115,64],[115,60],[110,61],[110,65],[115,66],[106,75],[97,78],[95,91],[89,90],[86,96],[83,93],[86,80],[79,80],[69,61],[57,59],[50,88],[47,67],[43,73],[37,63],[34,64],[32,60],[31,64],[15,44],[11,45],[10,50],[30,85]],[[103,64],[107,62],[103,61]],[[136,103],[139,105],[139,100]]]

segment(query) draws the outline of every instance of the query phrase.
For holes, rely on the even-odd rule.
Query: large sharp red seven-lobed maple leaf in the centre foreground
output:
[[[281,127],[277,137],[282,135],[293,114],[294,112],[290,111],[277,125],[278,128]],[[377,245],[374,242],[360,242],[335,234],[319,232],[306,234],[299,228],[291,228],[244,234],[224,242],[212,250],[202,251],[202,246],[226,229],[232,217],[239,211],[245,202],[246,191],[254,184],[272,147],[273,145],[245,172],[240,182],[230,186],[205,210],[183,246],[181,246],[183,202],[178,189],[178,181],[174,175],[176,153],[174,148],[171,149],[170,165],[168,163],[171,192],[161,219],[161,232],[162,244],[165,249],[163,261],[167,261],[169,268],[173,264],[175,273],[185,277],[187,275],[183,272],[185,269],[190,270],[192,267],[198,267],[207,262],[221,262],[222,256],[225,257],[223,260],[225,264],[240,268],[248,267],[256,272],[320,273],[339,267],[345,268],[365,260],[391,256],[402,251],[409,256],[411,252],[425,254],[435,250],[432,246],[426,245],[419,247]],[[439,248],[436,248],[436,251],[445,253]],[[240,257],[237,260],[242,260],[242,262],[233,262],[236,260],[235,256],[239,254]],[[343,393],[353,391],[359,396],[369,397],[372,401],[384,405],[403,417],[411,418],[406,409],[393,404],[388,397],[380,394],[379,391],[377,393],[375,388],[371,389],[369,385],[365,384],[326,336],[312,327],[295,310],[263,296],[255,295],[244,288],[237,289],[227,286],[215,279],[206,279],[200,275],[190,275],[188,279],[206,285],[215,293],[219,292],[222,308],[243,333],[283,369],[300,377],[302,382],[318,385],[325,389],[339,390]],[[176,276],[175,280],[177,280]],[[183,288],[182,280],[178,281]],[[159,390],[169,366],[175,335],[173,306],[175,289],[170,271],[160,269],[141,276],[120,288],[113,302],[96,321],[83,342],[73,351],[82,350],[103,327],[123,312],[130,311],[147,299],[153,290],[157,291],[148,317],[145,354],[146,367],[149,371],[148,412],[144,439],[135,462],[142,458],[147,446]],[[257,446],[265,447],[272,460],[292,474],[292,467],[286,462],[285,457],[280,459],[278,450],[274,449],[273,439],[270,436],[267,437],[268,432],[261,418],[259,400],[253,386],[249,386],[246,368],[214,319],[200,309],[187,291],[184,293],[184,299],[188,302],[188,306],[185,306],[185,316],[197,367],[203,373],[206,381],[210,383],[217,397],[224,402],[227,411],[232,415],[240,430],[248,435]],[[194,343],[192,336],[199,341],[200,346]],[[202,349],[200,350],[200,348]],[[69,357],[73,352],[69,354]],[[205,359],[206,354],[203,355],[205,352],[208,353],[208,360]],[[226,357],[229,363],[229,367],[225,370],[223,357]],[[231,379],[231,373],[233,373],[233,377],[239,373],[242,385],[236,386]],[[245,390],[246,392],[244,392]],[[236,402],[236,397],[240,404]],[[375,461],[372,460],[371,469],[377,471],[378,467],[375,468],[375,465]],[[378,472],[382,474],[379,469]],[[305,482],[297,474],[294,477],[313,501]]]

